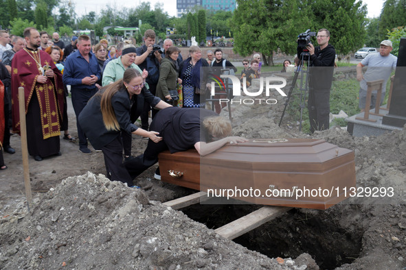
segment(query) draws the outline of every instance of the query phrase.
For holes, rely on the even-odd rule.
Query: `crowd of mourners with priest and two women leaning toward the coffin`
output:
[[[237,71],[223,59],[223,51],[207,51],[205,59],[199,47],[191,46],[183,58],[172,40],[164,40],[161,50],[155,39],[155,32],[148,29],[140,47],[131,40],[109,46],[102,39],[92,45],[86,35],[72,36],[65,46],[58,33],[51,38],[47,32],[28,27],[23,37],[10,37],[1,30],[1,149],[15,153],[10,136],[21,132],[16,102],[19,88],[25,96],[27,147],[34,160],[62,155],[63,131],[62,138],[78,143],[82,154],[92,153],[89,142],[94,151],[102,151],[106,176],[128,186],[157,162],[161,151],[195,148],[198,154],[206,155],[226,143],[244,142],[244,138],[229,136],[231,124],[218,116],[218,101],[212,103],[213,110],[205,110],[213,76],[221,75],[224,69],[232,74]],[[249,68],[241,75],[248,86],[260,74],[258,60],[253,61],[253,72]],[[69,90],[77,138],[68,129]],[[222,91],[214,97],[220,98]],[[135,125],[139,118],[140,124]],[[131,155],[132,134],[149,139],[141,156]],[[7,169],[3,151],[0,169]],[[155,177],[160,179],[159,168]]]

